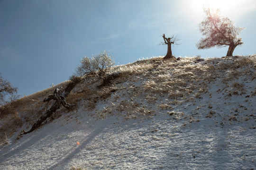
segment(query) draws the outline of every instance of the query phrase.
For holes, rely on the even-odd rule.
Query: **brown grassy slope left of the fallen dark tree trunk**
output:
[[[68,82],[55,85],[57,88],[65,86]],[[43,101],[49,94],[54,92],[54,87],[25,96],[17,101],[11,102],[0,108],[0,143],[6,141],[17,129],[27,124],[27,128],[44,112],[50,108],[52,102],[44,103]]]

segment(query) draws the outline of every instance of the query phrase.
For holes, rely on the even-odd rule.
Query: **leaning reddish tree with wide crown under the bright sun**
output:
[[[243,44],[242,38],[238,35],[245,28],[236,27],[235,23],[228,17],[219,16],[219,9],[214,11],[210,8],[204,8],[204,13],[206,16],[199,27],[200,32],[205,37],[197,43],[197,48],[208,49],[229,46],[227,56],[233,56],[235,48]]]

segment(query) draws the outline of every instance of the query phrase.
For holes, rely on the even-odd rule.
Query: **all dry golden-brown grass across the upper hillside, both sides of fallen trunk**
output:
[[[203,94],[210,96],[208,88],[213,82],[226,85],[225,91],[230,95],[247,93],[245,85],[237,83],[237,79],[244,76],[249,79],[243,81],[252,81],[256,78],[256,55],[211,59],[192,57],[179,61],[158,57],[109,69],[108,74],[113,73],[120,73],[120,76],[112,80],[111,85],[101,88],[97,88],[101,84],[98,79],[83,76],[83,81],[72,90],[67,102],[79,106],[85,114],[90,111],[92,117],[99,119],[112,114],[125,119],[151,118],[155,114],[154,105],[160,111],[169,111],[174,119],[181,119],[183,113],[173,111],[172,106],[178,105],[181,99],[193,102],[196,98],[201,99]],[[67,83],[56,86],[64,87]],[[1,134],[6,132],[10,136],[11,131],[24,123],[28,126],[34,123],[52,105],[51,102],[37,101],[42,101],[53,91],[51,87],[14,102],[13,110],[1,113]],[[256,95],[256,89],[249,93]],[[158,102],[159,98],[165,98],[166,102]],[[99,104],[101,108],[97,108]],[[12,118],[13,122],[7,118]],[[6,137],[2,135],[0,138],[4,140]]]

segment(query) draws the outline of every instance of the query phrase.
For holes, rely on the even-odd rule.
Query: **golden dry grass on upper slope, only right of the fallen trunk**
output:
[[[255,68],[252,71],[248,71],[247,68],[248,66],[255,67],[255,63],[255,56],[232,59],[193,57],[182,58],[179,62],[154,58],[119,66],[112,69],[112,71],[122,73],[122,76],[114,81],[113,88],[124,84],[119,86],[119,90],[124,91],[124,94],[110,93],[107,89],[95,93],[100,101],[112,100],[111,96],[114,96],[111,106],[104,107],[96,115],[105,118],[118,111],[127,119],[136,119],[140,116],[150,118],[155,112],[150,105],[157,104],[161,110],[172,110],[171,104],[179,104],[180,99],[186,99],[188,96],[190,97],[187,100],[191,101],[193,97],[202,99],[204,93],[209,93],[209,85],[214,81],[227,84],[227,90],[232,94],[243,94],[246,92],[244,85],[236,84],[236,78],[254,73]],[[140,94],[145,94],[145,96],[140,96]],[[129,100],[119,100],[122,96],[128,96]],[[166,96],[166,100],[172,102],[157,103],[159,96]]]

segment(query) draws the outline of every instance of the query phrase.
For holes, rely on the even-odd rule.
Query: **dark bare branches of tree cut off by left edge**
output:
[[[13,87],[0,75],[0,106],[18,99],[17,91],[17,87]]]

